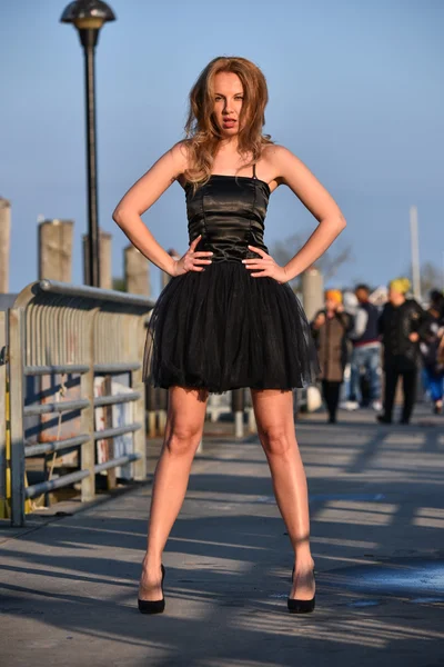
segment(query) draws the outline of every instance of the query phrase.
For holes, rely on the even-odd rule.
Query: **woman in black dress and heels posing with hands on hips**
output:
[[[243,58],[215,58],[190,93],[188,139],[127,192],[113,218],[172,280],[150,320],[144,377],[169,389],[139,588],[144,613],[164,608],[162,552],[182,506],[209,392],[250,387],[276,501],[294,550],[292,611],[314,608],[307,488],[294,435],[292,388],[311,381],[315,350],[287,285],[344,229],[332,197],[290,150],[262,133],[265,78]],[[173,260],[141,215],[178,181],[190,247]],[[309,241],[279,266],[263,241],[270,195],[286,185],[317,219]]]

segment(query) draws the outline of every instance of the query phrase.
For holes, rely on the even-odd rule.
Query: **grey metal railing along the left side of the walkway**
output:
[[[147,317],[153,305],[152,300],[135,295],[51,280],[34,282],[17,297],[7,321],[13,525],[24,522],[27,498],[60,487],[80,481],[81,500],[91,500],[98,472],[132,464],[131,477],[145,478],[141,360]],[[0,348],[1,336],[0,319]],[[2,366],[0,384],[1,369]],[[98,378],[103,376],[108,380],[115,376],[125,378],[128,387],[114,395],[110,391],[98,396]],[[119,426],[104,424],[99,429],[97,409],[122,404],[132,404],[132,421]],[[74,425],[73,432],[67,436],[62,431],[70,424]],[[48,436],[51,425],[56,425],[57,435],[50,431]],[[132,435],[132,451],[95,462],[98,440],[128,434]],[[77,470],[26,486],[27,457],[75,450],[79,451]]]

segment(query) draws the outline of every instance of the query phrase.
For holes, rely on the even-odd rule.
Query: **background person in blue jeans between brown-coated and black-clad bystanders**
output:
[[[357,409],[363,405],[361,392],[361,372],[364,370],[369,382],[370,404],[380,411],[381,405],[381,341],[379,334],[380,312],[370,302],[370,288],[359,285],[355,289],[359,302],[354,326],[350,332],[353,342],[351,389],[349,409]]]

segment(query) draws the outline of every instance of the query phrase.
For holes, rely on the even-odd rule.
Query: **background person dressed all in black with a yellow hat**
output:
[[[416,389],[420,340],[427,334],[430,316],[414,299],[407,299],[407,278],[397,278],[389,285],[389,302],[379,320],[379,331],[384,346],[384,411],[377,417],[383,424],[392,422],[396,386],[403,380],[404,405],[401,424],[408,424]]]

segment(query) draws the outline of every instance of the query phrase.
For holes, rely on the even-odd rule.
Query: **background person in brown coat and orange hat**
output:
[[[327,290],[325,308],[317,312],[312,321],[312,332],[317,347],[322,394],[330,424],[336,422],[341,385],[347,360],[347,334],[352,323],[351,316],[344,312],[341,291]]]

